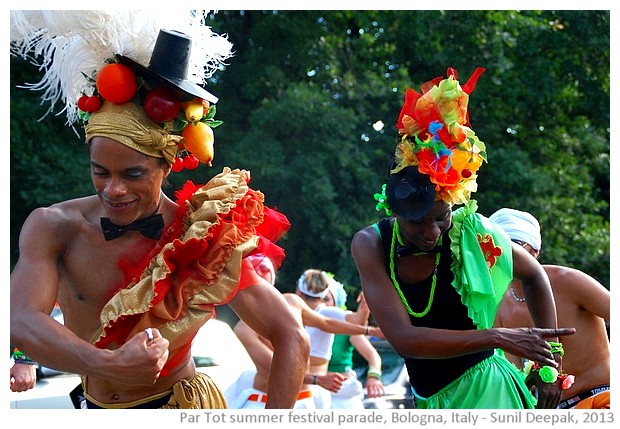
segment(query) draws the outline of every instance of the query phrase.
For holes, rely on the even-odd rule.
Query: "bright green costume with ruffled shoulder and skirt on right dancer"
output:
[[[453,213],[453,226],[444,237],[449,241],[449,249],[441,250],[442,256],[451,258],[441,259],[430,311],[422,317],[410,316],[412,325],[439,329],[493,326],[499,303],[512,279],[512,250],[506,234],[477,214],[476,209],[476,201],[470,200]],[[382,237],[384,248],[390,239]],[[389,260],[389,254],[386,256]],[[453,290],[446,287],[450,275]],[[403,287],[405,298],[409,303],[419,302],[419,298],[413,299],[412,289]],[[452,302],[446,303],[447,300]],[[461,309],[462,314],[455,315],[445,308]],[[460,326],[463,321],[468,326]],[[501,350],[448,359],[405,358],[405,362],[417,408],[519,409],[534,408],[536,404],[523,374]],[[420,386],[418,391],[416,385]]]

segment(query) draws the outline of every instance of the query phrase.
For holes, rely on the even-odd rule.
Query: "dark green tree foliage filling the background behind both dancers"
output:
[[[224,121],[214,166],[171,181],[203,183],[224,165],[250,170],[266,204],[292,223],[281,290],[316,267],[355,296],[349,245],[383,216],[373,194],[405,89],[447,67],[465,81],[476,66],[487,69],[470,99],[489,153],[474,196],[480,212],[530,211],[543,228],[541,262],[609,287],[609,11],[219,11],[209,24],[235,50],[209,87]],[[13,87],[31,71],[12,63]],[[12,92],[23,100],[11,103],[15,240],[29,210],[82,195],[71,186],[88,185],[88,173],[73,132],[31,129],[53,118],[33,123],[25,112],[38,99]],[[377,121],[385,126],[375,130]],[[24,146],[27,136],[36,139]]]

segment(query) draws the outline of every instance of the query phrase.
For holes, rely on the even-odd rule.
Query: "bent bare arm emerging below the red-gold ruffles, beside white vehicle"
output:
[[[310,342],[301,322],[273,286],[261,279],[241,290],[231,308],[273,346],[266,408],[292,408],[308,366]]]

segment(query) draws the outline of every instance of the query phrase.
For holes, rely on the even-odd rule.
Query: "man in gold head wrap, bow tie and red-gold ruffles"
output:
[[[153,53],[177,65],[173,54],[189,51],[187,38],[160,37],[176,48],[162,49],[158,38]],[[163,85],[179,97],[215,98],[186,76],[175,80],[181,87],[123,64],[144,79],[138,91]],[[95,194],[38,208],[22,227],[11,273],[12,344],[42,365],[80,374],[83,408],[224,408],[217,386],[196,371],[190,346],[215,306],[228,303],[274,346],[266,406],[292,407],[307,334],[244,259],[268,239],[258,232],[268,209],[248,187],[249,173],[225,168],[203,187],[186,184],[172,201],[161,187],[182,135],[147,117],[140,97],[100,97],[85,126]],[[135,221],[151,228],[138,232]],[[64,325],[50,317],[56,302]]]

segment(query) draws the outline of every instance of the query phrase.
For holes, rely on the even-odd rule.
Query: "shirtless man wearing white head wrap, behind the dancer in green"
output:
[[[530,213],[502,208],[490,217],[514,242],[538,259],[541,250],[540,224]],[[558,325],[573,326],[574,335],[562,338],[564,372],[575,376],[574,384],[562,391],[558,408],[609,408],[610,354],[605,321],[609,321],[610,295],[591,276],[568,267],[543,265],[555,298]],[[533,326],[521,282],[514,280],[499,307],[496,326]],[[507,354],[519,368],[520,357]]]

